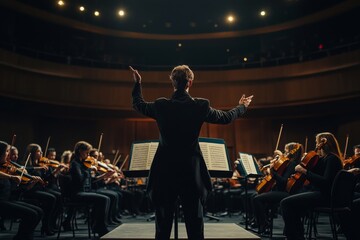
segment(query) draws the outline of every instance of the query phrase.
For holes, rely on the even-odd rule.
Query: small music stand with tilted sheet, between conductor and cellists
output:
[[[245,188],[245,229],[248,229],[248,181],[250,178],[259,178],[262,177],[262,173],[259,169],[259,166],[255,162],[255,158],[246,153],[239,152],[239,162],[240,164],[237,165],[237,170],[239,171],[240,175],[244,178],[244,188]]]

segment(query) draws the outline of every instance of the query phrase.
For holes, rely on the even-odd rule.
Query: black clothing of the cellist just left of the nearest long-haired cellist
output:
[[[266,229],[267,215],[266,210],[272,209],[276,210],[276,207],[280,201],[289,196],[289,193],[286,191],[286,184],[288,178],[295,173],[295,166],[299,164],[299,161],[290,161],[286,166],[286,169],[282,175],[279,175],[277,172],[272,169],[272,176],[275,179],[275,186],[270,192],[258,194],[253,199],[254,212],[256,216],[256,221],[259,226],[259,232],[264,232]]]

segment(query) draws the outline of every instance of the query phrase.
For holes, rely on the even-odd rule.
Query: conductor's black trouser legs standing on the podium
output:
[[[194,191],[190,191],[189,189],[182,189],[178,194],[172,191],[169,191],[169,193],[166,194],[167,196],[165,199],[167,199],[167,201],[158,203],[157,206],[155,206],[155,239],[170,239],[178,197],[184,213],[188,239],[204,239],[203,206],[200,198],[196,196]]]

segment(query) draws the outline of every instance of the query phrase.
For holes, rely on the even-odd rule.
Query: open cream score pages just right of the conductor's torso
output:
[[[224,144],[199,142],[206,167],[209,170],[228,171],[229,165]]]

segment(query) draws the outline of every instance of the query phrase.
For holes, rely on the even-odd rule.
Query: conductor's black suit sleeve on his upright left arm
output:
[[[145,102],[142,91],[141,91],[141,84],[135,83],[133,91],[132,91],[132,104],[133,108],[151,118],[155,118],[155,104],[154,102]]]

